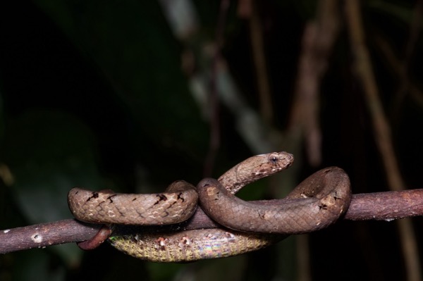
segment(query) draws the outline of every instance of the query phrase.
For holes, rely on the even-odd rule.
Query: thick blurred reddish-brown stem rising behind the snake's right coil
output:
[[[319,1],[317,20],[309,21],[302,35],[302,52],[289,124],[291,134],[295,135],[295,131],[300,130],[300,135],[304,137],[307,158],[312,166],[319,166],[321,162],[319,89],[338,30],[338,1]]]

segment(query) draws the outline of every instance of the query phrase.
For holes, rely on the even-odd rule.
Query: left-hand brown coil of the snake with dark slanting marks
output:
[[[168,225],[188,220],[195,212],[198,194],[188,182],[178,180],[158,194],[91,192],[75,187],[68,206],[85,223]]]

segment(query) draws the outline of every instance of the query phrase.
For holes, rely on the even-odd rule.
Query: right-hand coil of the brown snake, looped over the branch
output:
[[[337,167],[307,177],[276,206],[243,201],[211,178],[199,182],[197,191],[203,211],[217,223],[238,231],[285,235],[331,225],[348,209],[351,199],[348,175]]]

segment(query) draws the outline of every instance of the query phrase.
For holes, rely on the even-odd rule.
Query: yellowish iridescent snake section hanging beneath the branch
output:
[[[281,235],[247,234],[220,228],[109,238],[111,246],[146,261],[173,263],[225,258],[279,242]]]

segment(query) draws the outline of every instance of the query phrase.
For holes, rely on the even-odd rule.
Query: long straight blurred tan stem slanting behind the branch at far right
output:
[[[364,28],[362,27],[360,2],[355,0],[346,1],[345,13],[350,32],[351,45],[355,54],[357,76],[362,83],[364,95],[367,99],[367,106],[369,107],[374,127],[374,137],[383,160],[382,163],[384,163],[388,186],[391,190],[402,190],[405,184],[400,175],[398,161],[393,149],[391,130],[384,114],[384,108],[379,99],[379,90],[376,85],[369,51],[364,42]],[[420,259],[417,252],[418,247],[415,234],[412,230],[411,221],[400,220],[398,222],[398,227],[408,280],[422,280]]]

